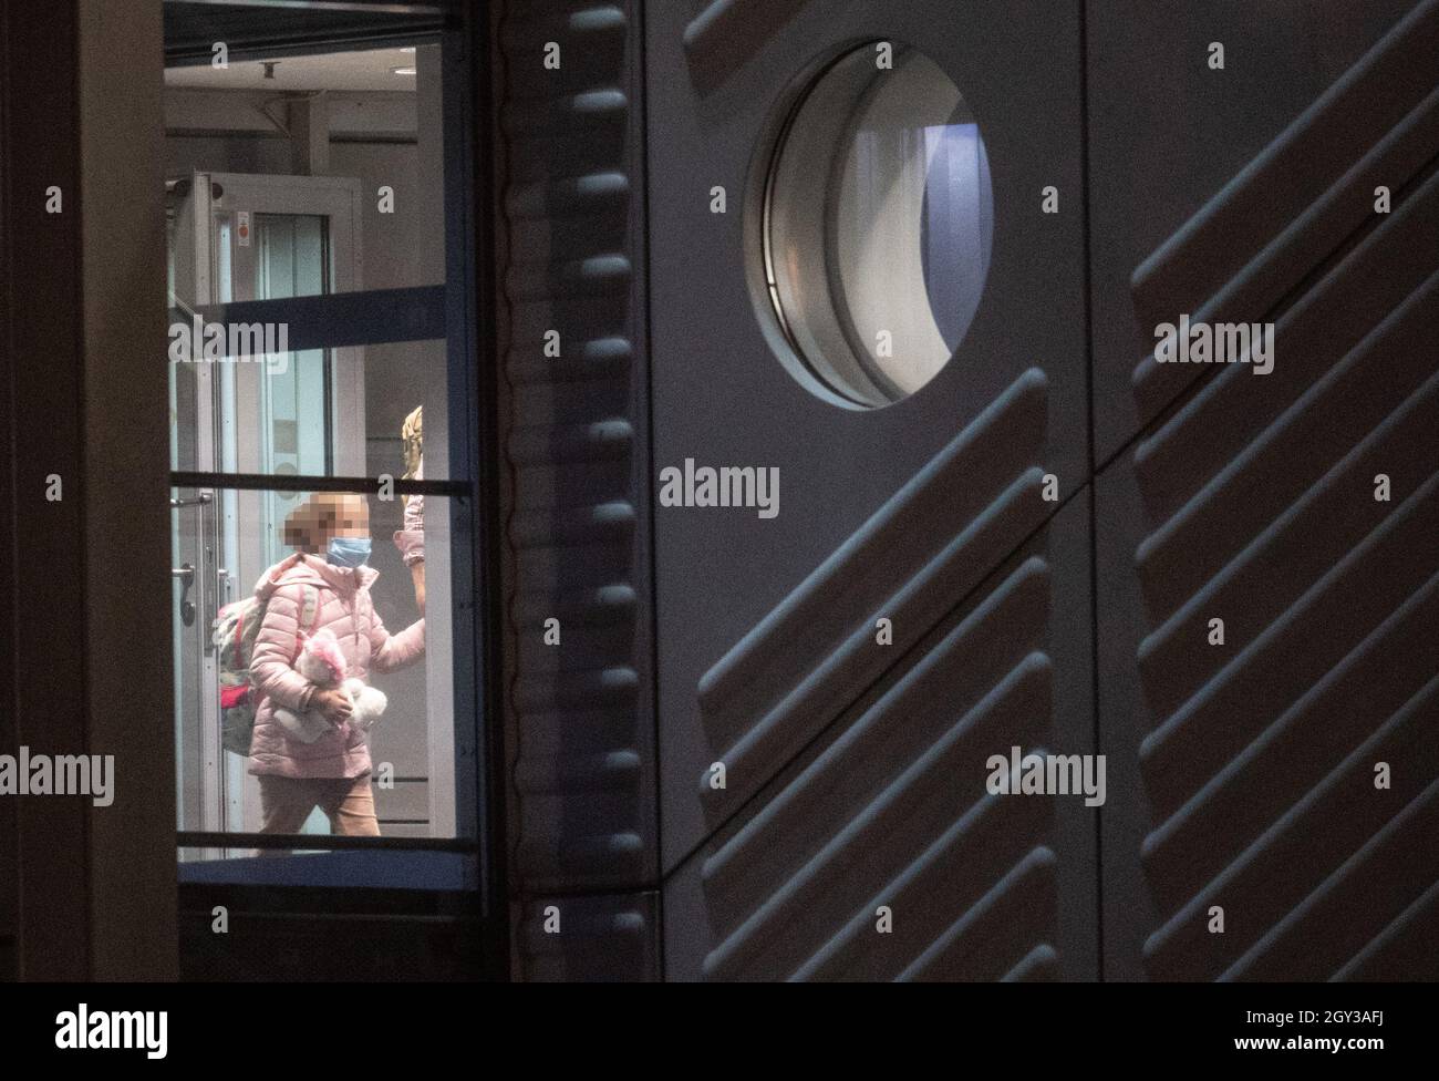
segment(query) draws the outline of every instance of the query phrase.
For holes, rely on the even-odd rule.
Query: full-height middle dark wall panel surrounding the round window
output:
[[[648,7],[655,468],[783,478],[773,520],[655,511],[666,973],[1092,976],[1094,812],[981,797],[989,754],[1092,736],[1078,4],[748,7]],[[973,107],[996,225],[954,360],[850,410],[771,351],[745,200],[804,73],[876,39]]]

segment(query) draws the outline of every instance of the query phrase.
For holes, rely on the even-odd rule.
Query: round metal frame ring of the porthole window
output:
[[[793,154],[797,150],[791,144],[791,140],[796,137],[796,125],[802,114],[804,114],[806,107],[816,101],[820,92],[827,92],[830,96],[843,95],[843,86],[826,86],[826,81],[835,76],[836,71],[846,62],[855,60],[858,63],[861,56],[884,46],[889,49],[895,71],[902,68],[905,58],[914,58],[927,63],[937,75],[944,78],[954,91],[958,107],[970,117],[967,122],[974,127],[980,161],[977,204],[983,220],[979,248],[981,269],[977,286],[973,291],[973,304],[954,343],[947,343],[948,356],[909,390],[898,387],[889,373],[873,363],[868,350],[862,350],[853,343],[855,331],[852,325],[845,330],[845,353],[842,357],[836,358],[835,353],[822,353],[813,347],[806,348],[800,343],[800,335],[796,333],[794,325],[794,308],[787,307],[781,297],[783,288],[777,271],[778,259],[774,243],[776,206],[777,200],[784,194],[777,191],[777,186],[780,184],[786,154]],[[848,78],[852,83],[855,82],[853,73]],[[837,177],[848,163],[856,124],[863,118],[863,109],[868,108],[873,95],[875,79],[871,78],[863,83],[861,94],[852,95],[853,99],[846,104],[842,119],[830,124],[830,128],[837,131],[839,137],[829,140],[823,168],[813,170],[816,174],[823,174],[825,180],[820,186],[823,197],[817,200],[822,204],[819,217],[823,219],[823,225],[812,248],[823,256],[823,273],[819,276],[825,282],[822,289],[826,301],[825,307],[827,308],[825,317],[840,325],[848,324],[850,315],[845,309],[845,305],[836,301],[836,298],[843,297],[843,289],[836,285],[837,268],[833,249],[837,229],[833,226],[833,219],[837,207],[833,206],[835,200],[832,196],[837,191]],[[816,140],[813,132],[809,134],[810,143],[822,141]],[[907,400],[914,393],[922,392],[958,356],[970,328],[980,315],[989,284],[989,269],[993,263],[994,226],[993,170],[989,166],[989,150],[983,137],[983,125],[974,114],[970,99],[964,95],[960,81],[935,56],[899,37],[863,36],[833,43],[789,81],[784,94],[776,99],[770,109],[770,117],[750,160],[744,200],[744,266],[751,307],[770,351],[774,353],[786,371],[800,386],[814,397],[842,409],[885,409]],[[928,292],[924,298],[924,307],[931,321],[935,321],[928,304]],[[938,330],[938,327],[935,328]]]

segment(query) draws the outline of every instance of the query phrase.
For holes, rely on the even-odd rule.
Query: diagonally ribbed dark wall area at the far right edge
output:
[[[1433,934],[1436,72],[1429,0],[1134,276],[1141,320],[1276,322],[1269,376],[1143,361],[1141,400],[1199,381],[1101,481],[1101,574],[1128,543],[1138,576],[1105,619],[1143,628],[1153,977],[1374,977]]]

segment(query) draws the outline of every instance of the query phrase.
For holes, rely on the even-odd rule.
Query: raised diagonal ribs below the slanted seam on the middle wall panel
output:
[[[1048,574],[1010,574],[704,861],[707,977],[997,979],[1050,941],[1055,805],[973,783],[1052,740]]]

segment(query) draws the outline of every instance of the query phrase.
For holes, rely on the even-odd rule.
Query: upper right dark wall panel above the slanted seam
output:
[[[1415,0],[1086,3],[1099,465],[1151,423],[1191,374],[1187,366],[1153,371],[1153,364],[1135,373],[1154,347],[1157,311],[1181,299],[1213,298],[1223,309],[1272,304],[1282,295],[1272,291],[1281,282],[1292,285],[1292,269],[1312,253],[1305,242],[1334,236],[1345,223],[1353,227],[1353,216],[1373,203],[1374,183],[1403,183],[1370,181],[1367,199],[1341,196],[1360,191],[1368,180],[1356,173],[1343,189],[1330,190],[1357,161],[1344,153],[1353,145],[1348,135],[1390,131],[1396,118],[1389,109],[1407,111],[1417,89],[1432,88],[1432,63],[1425,66],[1400,50],[1351,88],[1361,95],[1330,98],[1327,89],[1413,7]],[[1226,50],[1223,71],[1209,66],[1215,42]],[[1409,48],[1416,48],[1413,37]],[[1406,66],[1406,59],[1416,62]],[[1295,135],[1304,138],[1276,140],[1297,118]],[[1377,143],[1377,137],[1366,143],[1366,150]],[[1394,150],[1403,157],[1403,147]],[[1301,161],[1305,167],[1295,170]],[[1250,183],[1243,203],[1230,200],[1209,216],[1196,216],[1246,170]],[[1403,168],[1396,173],[1409,176]],[[1337,203],[1325,200],[1327,190]],[[1295,207],[1311,207],[1322,217],[1305,222],[1298,236],[1281,236]],[[1190,219],[1190,232],[1180,230]],[[1168,238],[1173,248],[1164,246]],[[1261,250],[1276,239],[1274,250]],[[1180,248],[1190,258],[1176,262]],[[1163,268],[1145,265],[1151,253],[1163,259]],[[1137,294],[1130,289],[1131,275],[1138,279]],[[1229,292],[1216,288],[1220,279]],[[1193,308],[1177,308],[1167,320],[1179,311],[1199,318]]]

